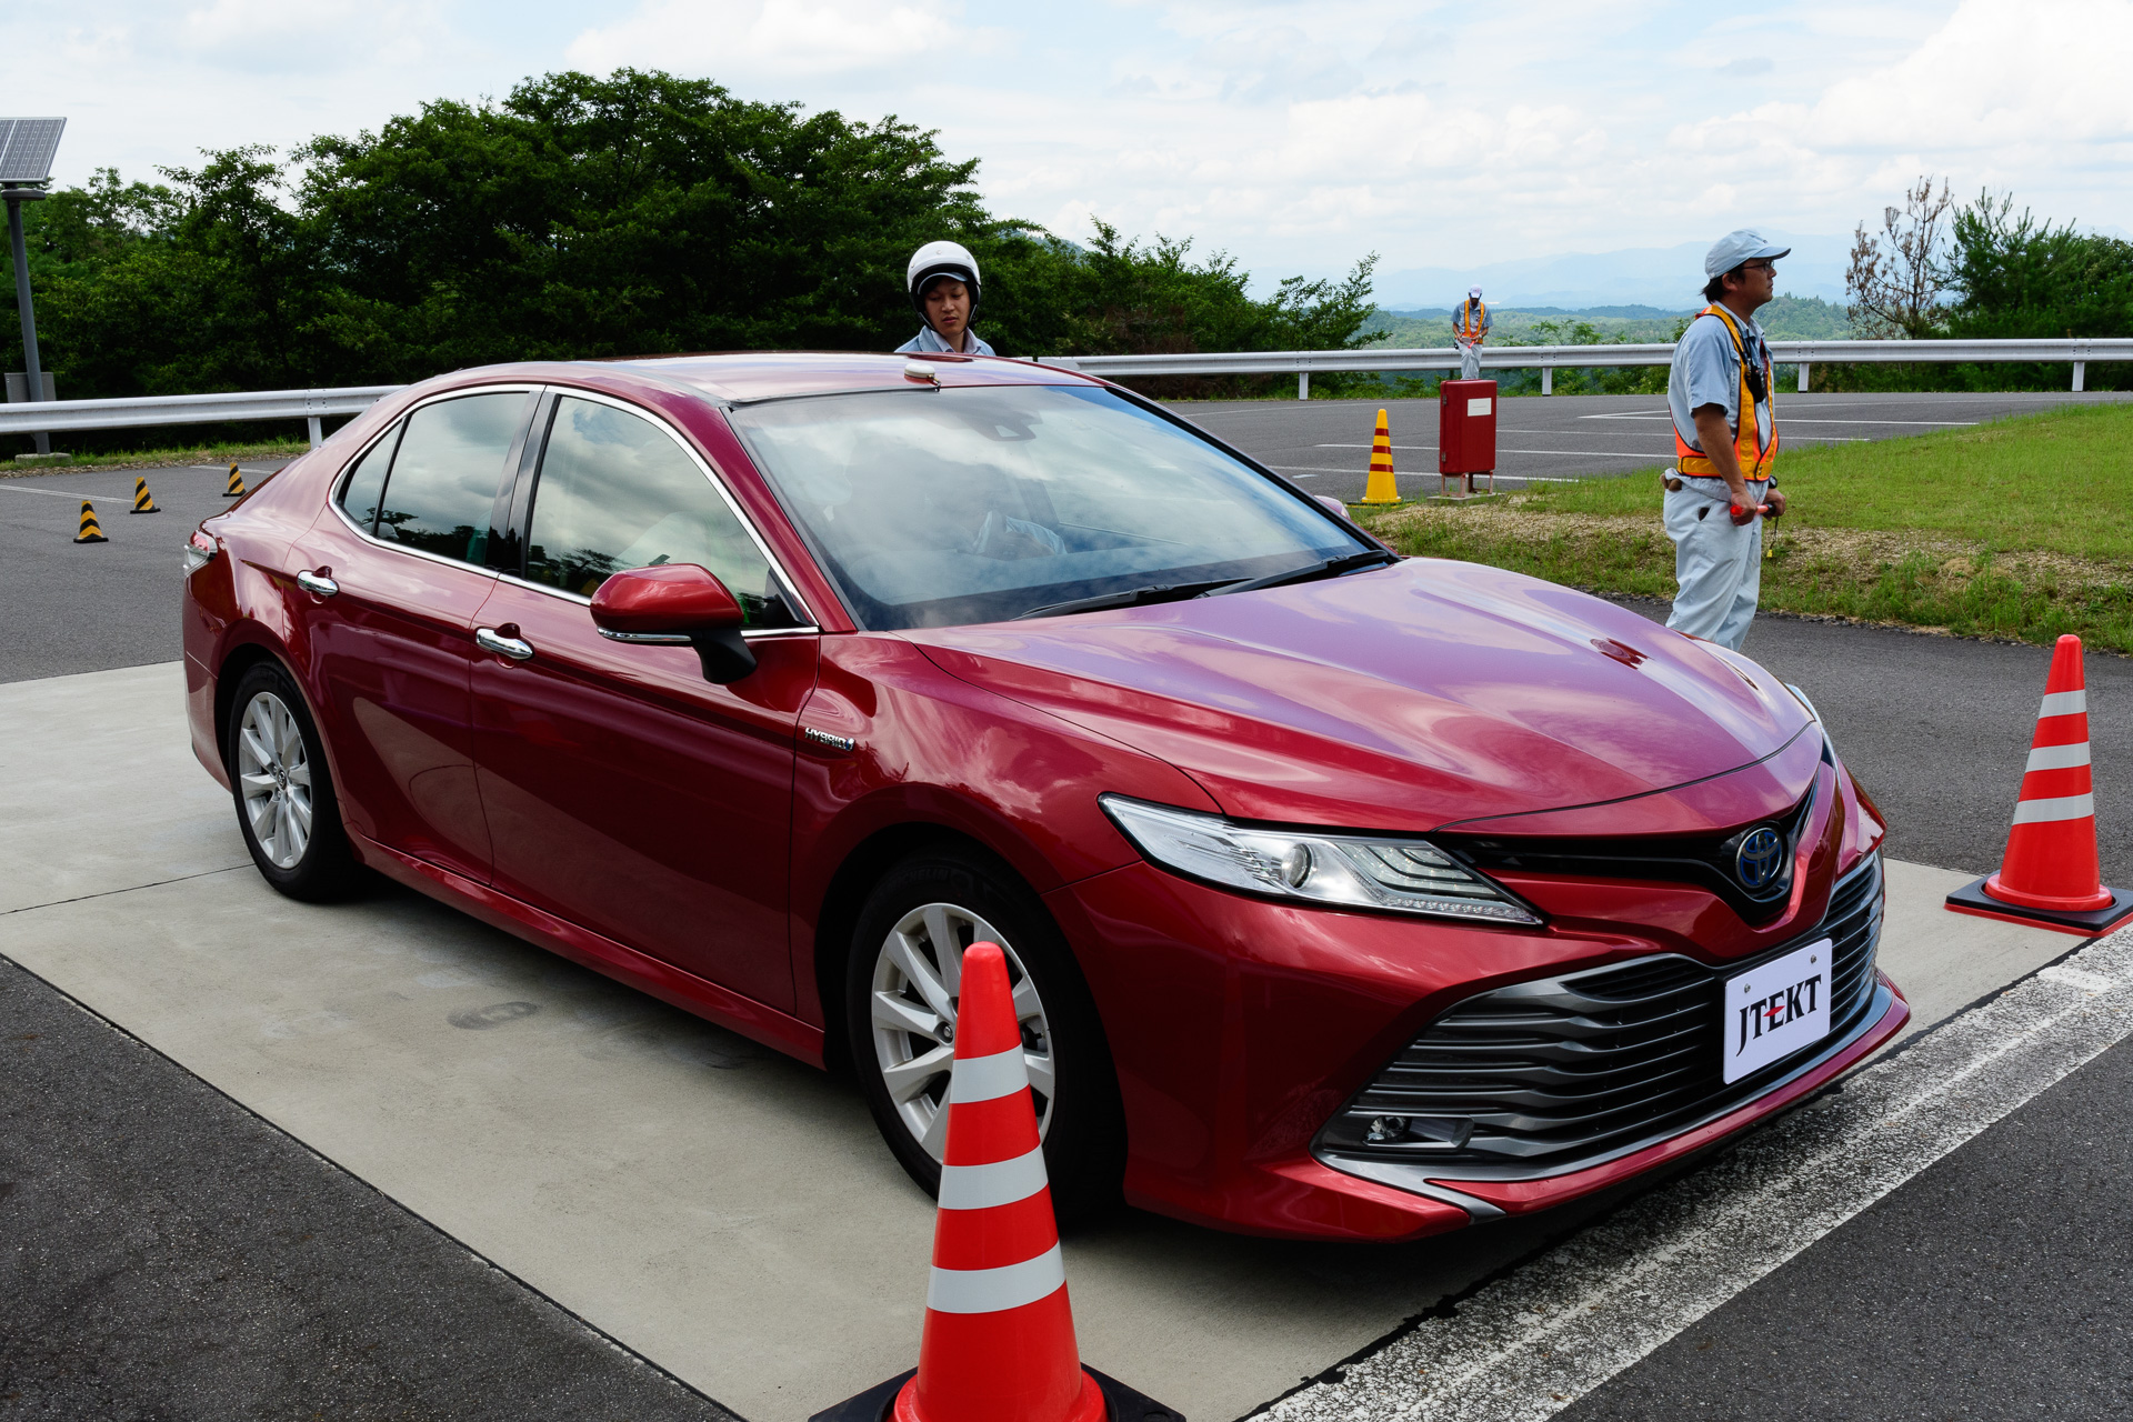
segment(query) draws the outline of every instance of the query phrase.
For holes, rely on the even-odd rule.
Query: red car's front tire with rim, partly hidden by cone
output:
[[[962,953],[985,940],[1007,955],[1054,1209],[1088,1215],[1118,1198],[1124,1173],[1111,1051],[1073,951],[1007,866],[926,851],[866,898],[845,972],[860,1089],[898,1164],[939,1194]]]

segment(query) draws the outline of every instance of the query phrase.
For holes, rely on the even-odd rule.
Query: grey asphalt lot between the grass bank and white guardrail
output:
[[[1984,420],[2037,414],[2124,394],[1787,394],[1777,392],[1777,429],[1792,448],[1894,439]],[[1399,492],[1440,488],[1436,401],[1207,401],[1171,405],[1318,495],[1363,497],[1378,409],[1393,435]],[[1664,394],[1517,397],[1497,405],[1497,484],[1583,480],[1657,469],[1674,458]],[[1653,495],[1657,503],[1657,495]]]

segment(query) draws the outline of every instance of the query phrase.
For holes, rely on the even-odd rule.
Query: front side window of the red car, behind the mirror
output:
[[[591,597],[612,573],[659,563],[710,569],[749,627],[800,625],[761,548],[668,431],[612,405],[559,399],[533,486],[527,578]]]

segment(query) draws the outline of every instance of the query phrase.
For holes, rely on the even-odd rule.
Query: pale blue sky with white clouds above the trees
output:
[[[2133,2],[79,0],[9,6],[58,177],[375,128],[619,64],[896,113],[992,207],[1098,213],[1261,277],[1849,232],[1918,173],[2133,228]]]

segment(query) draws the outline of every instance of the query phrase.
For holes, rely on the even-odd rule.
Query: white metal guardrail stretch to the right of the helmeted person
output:
[[[1994,360],[2067,360],[2073,365],[2073,388],[2090,360],[2133,360],[2133,339],[2095,341],[1770,341],[1779,365],[1800,367],[1800,390],[1807,373],[1824,362],[1994,362]],[[1668,365],[1670,343],[1653,345],[1482,345],[1485,371],[1540,371],[1540,392],[1555,392],[1557,369],[1589,369],[1606,365]],[[1045,365],[1090,375],[1295,375],[1297,399],[1312,392],[1314,371],[1457,371],[1455,345],[1412,350],[1237,350],[1222,354],[1180,356],[1052,356]]]

